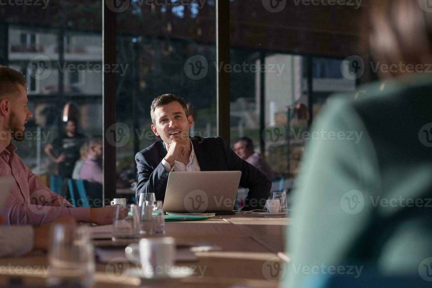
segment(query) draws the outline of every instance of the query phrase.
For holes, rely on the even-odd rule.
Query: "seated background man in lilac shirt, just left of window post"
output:
[[[102,137],[93,136],[89,140],[89,155],[81,166],[79,179],[90,183],[103,184],[104,173],[102,169]]]

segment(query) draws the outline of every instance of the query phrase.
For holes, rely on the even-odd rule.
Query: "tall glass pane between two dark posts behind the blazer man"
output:
[[[184,98],[194,117],[191,135],[216,136],[215,3],[157,3],[132,1],[117,15],[117,123],[130,132],[127,144],[117,147],[118,193],[134,195],[134,156],[160,140],[150,119],[150,105],[157,96],[171,93]]]

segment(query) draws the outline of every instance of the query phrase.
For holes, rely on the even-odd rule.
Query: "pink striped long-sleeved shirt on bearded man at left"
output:
[[[12,175],[16,181],[0,209],[0,215],[7,217],[6,224],[40,226],[64,216],[89,222],[89,207],[73,208],[66,199],[42,184],[15,150],[12,142],[6,149],[0,145],[0,176]],[[0,190],[0,193],[7,191]]]

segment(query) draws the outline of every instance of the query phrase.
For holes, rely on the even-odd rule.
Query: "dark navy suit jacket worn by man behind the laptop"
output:
[[[201,171],[241,171],[240,186],[249,188],[243,210],[262,209],[271,189],[271,182],[257,168],[241,159],[222,137],[191,137]],[[168,172],[162,165],[167,150],[162,140],[135,155],[138,170],[137,203],[140,193],[155,193],[165,198]]]

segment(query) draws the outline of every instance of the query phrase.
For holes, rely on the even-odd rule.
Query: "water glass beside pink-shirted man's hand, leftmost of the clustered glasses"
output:
[[[112,241],[126,241],[140,237],[140,212],[135,204],[117,206],[112,225]],[[126,217],[124,217],[127,212]]]

